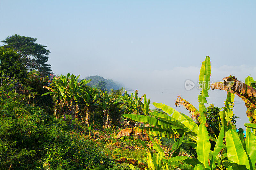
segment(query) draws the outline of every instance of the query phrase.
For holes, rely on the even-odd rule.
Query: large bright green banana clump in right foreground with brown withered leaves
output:
[[[208,135],[205,123],[203,111],[205,110],[204,103],[207,103],[206,97],[208,97],[209,90],[209,77],[210,77],[210,59],[206,57],[205,62],[202,63],[200,70],[199,84],[202,88],[200,95],[198,96],[199,109],[196,110],[192,105],[188,105],[188,108],[198,111],[200,115],[200,125],[197,125],[189,116],[179,113],[177,110],[164,105],[162,103],[153,103],[157,108],[161,108],[165,113],[161,114],[156,112],[150,112],[149,116],[146,115],[130,115],[124,114],[125,118],[130,118],[134,121],[144,122],[153,125],[154,127],[143,128],[148,131],[149,135],[162,136],[167,138],[179,138],[175,140],[175,146],[173,146],[172,157],[163,159],[169,165],[177,165],[181,169],[256,169],[255,167],[255,155],[256,155],[256,137],[251,132],[256,129],[254,123],[245,124],[247,127],[246,139],[244,140],[243,130],[236,132],[235,126],[232,124],[230,118],[233,116],[233,104],[234,93],[240,95],[240,97],[247,103],[254,104],[254,88],[250,85],[239,89],[238,85],[241,84],[234,77],[226,78],[224,87],[218,87],[211,85],[214,88],[226,90],[227,99],[224,101],[223,110],[220,111],[220,134],[215,138]],[[225,79],[224,79],[225,80]],[[249,79],[250,80],[250,79]],[[249,81],[253,84],[253,79]],[[206,82],[206,83],[205,83]],[[248,81],[247,81],[248,82]],[[252,88],[251,88],[252,87]],[[255,93],[256,94],[256,93]],[[188,103],[186,103],[187,105]],[[253,118],[252,118],[253,119]],[[196,146],[185,140],[186,136],[196,141]],[[210,150],[210,141],[215,141],[216,145],[214,150]],[[182,142],[190,144],[196,149],[198,158],[189,158],[185,156],[177,156],[179,152],[179,144]],[[178,165],[179,161],[185,162],[186,165]]]

